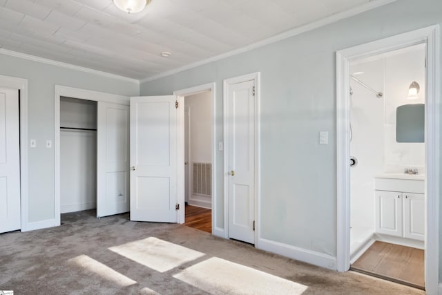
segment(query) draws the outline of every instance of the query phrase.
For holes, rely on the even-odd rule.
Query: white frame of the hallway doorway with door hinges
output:
[[[213,83],[207,83],[202,84],[198,86],[193,86],[190,88],[185,88],[178,91],[173,91],[173,95],[177,96],[178,102],[180,106],[184,108],[184,97],[189,95],[195,95],[198,93],[203,93],[206,91],[211,91],[211,99],[212,99],[212,139],[211,139],[211,162],[212,162],[212,234],[215,236],[224,236],[222,234],[222,229],[216,227],[216,217],[217,217],[217,207],[216,207],[216,200],[218,199],[218,196],[216,196],[216,162],[215,162],[215,153],[216,153],[216,121],[215,121],[215,110],[216,110],[216,104],[215,104],[215,82]],[[178,163],[184,164],[184,111],[178,112],[178,128],[177,128],[177,137],[178,137],[178,156],[177,161]],[[190,164],[190,163],[189,163]],[[180,210],[178,214],[178,223],[184,223],[185,219],[185,209],[184,209],[184,169],[178,169],[178,175],[177,175],[177,181],[178,181],[178,190],[177,190],[177,200],[178,203],[182,206],[182,210]],[[190,196],[189,196],[190,197]]]

